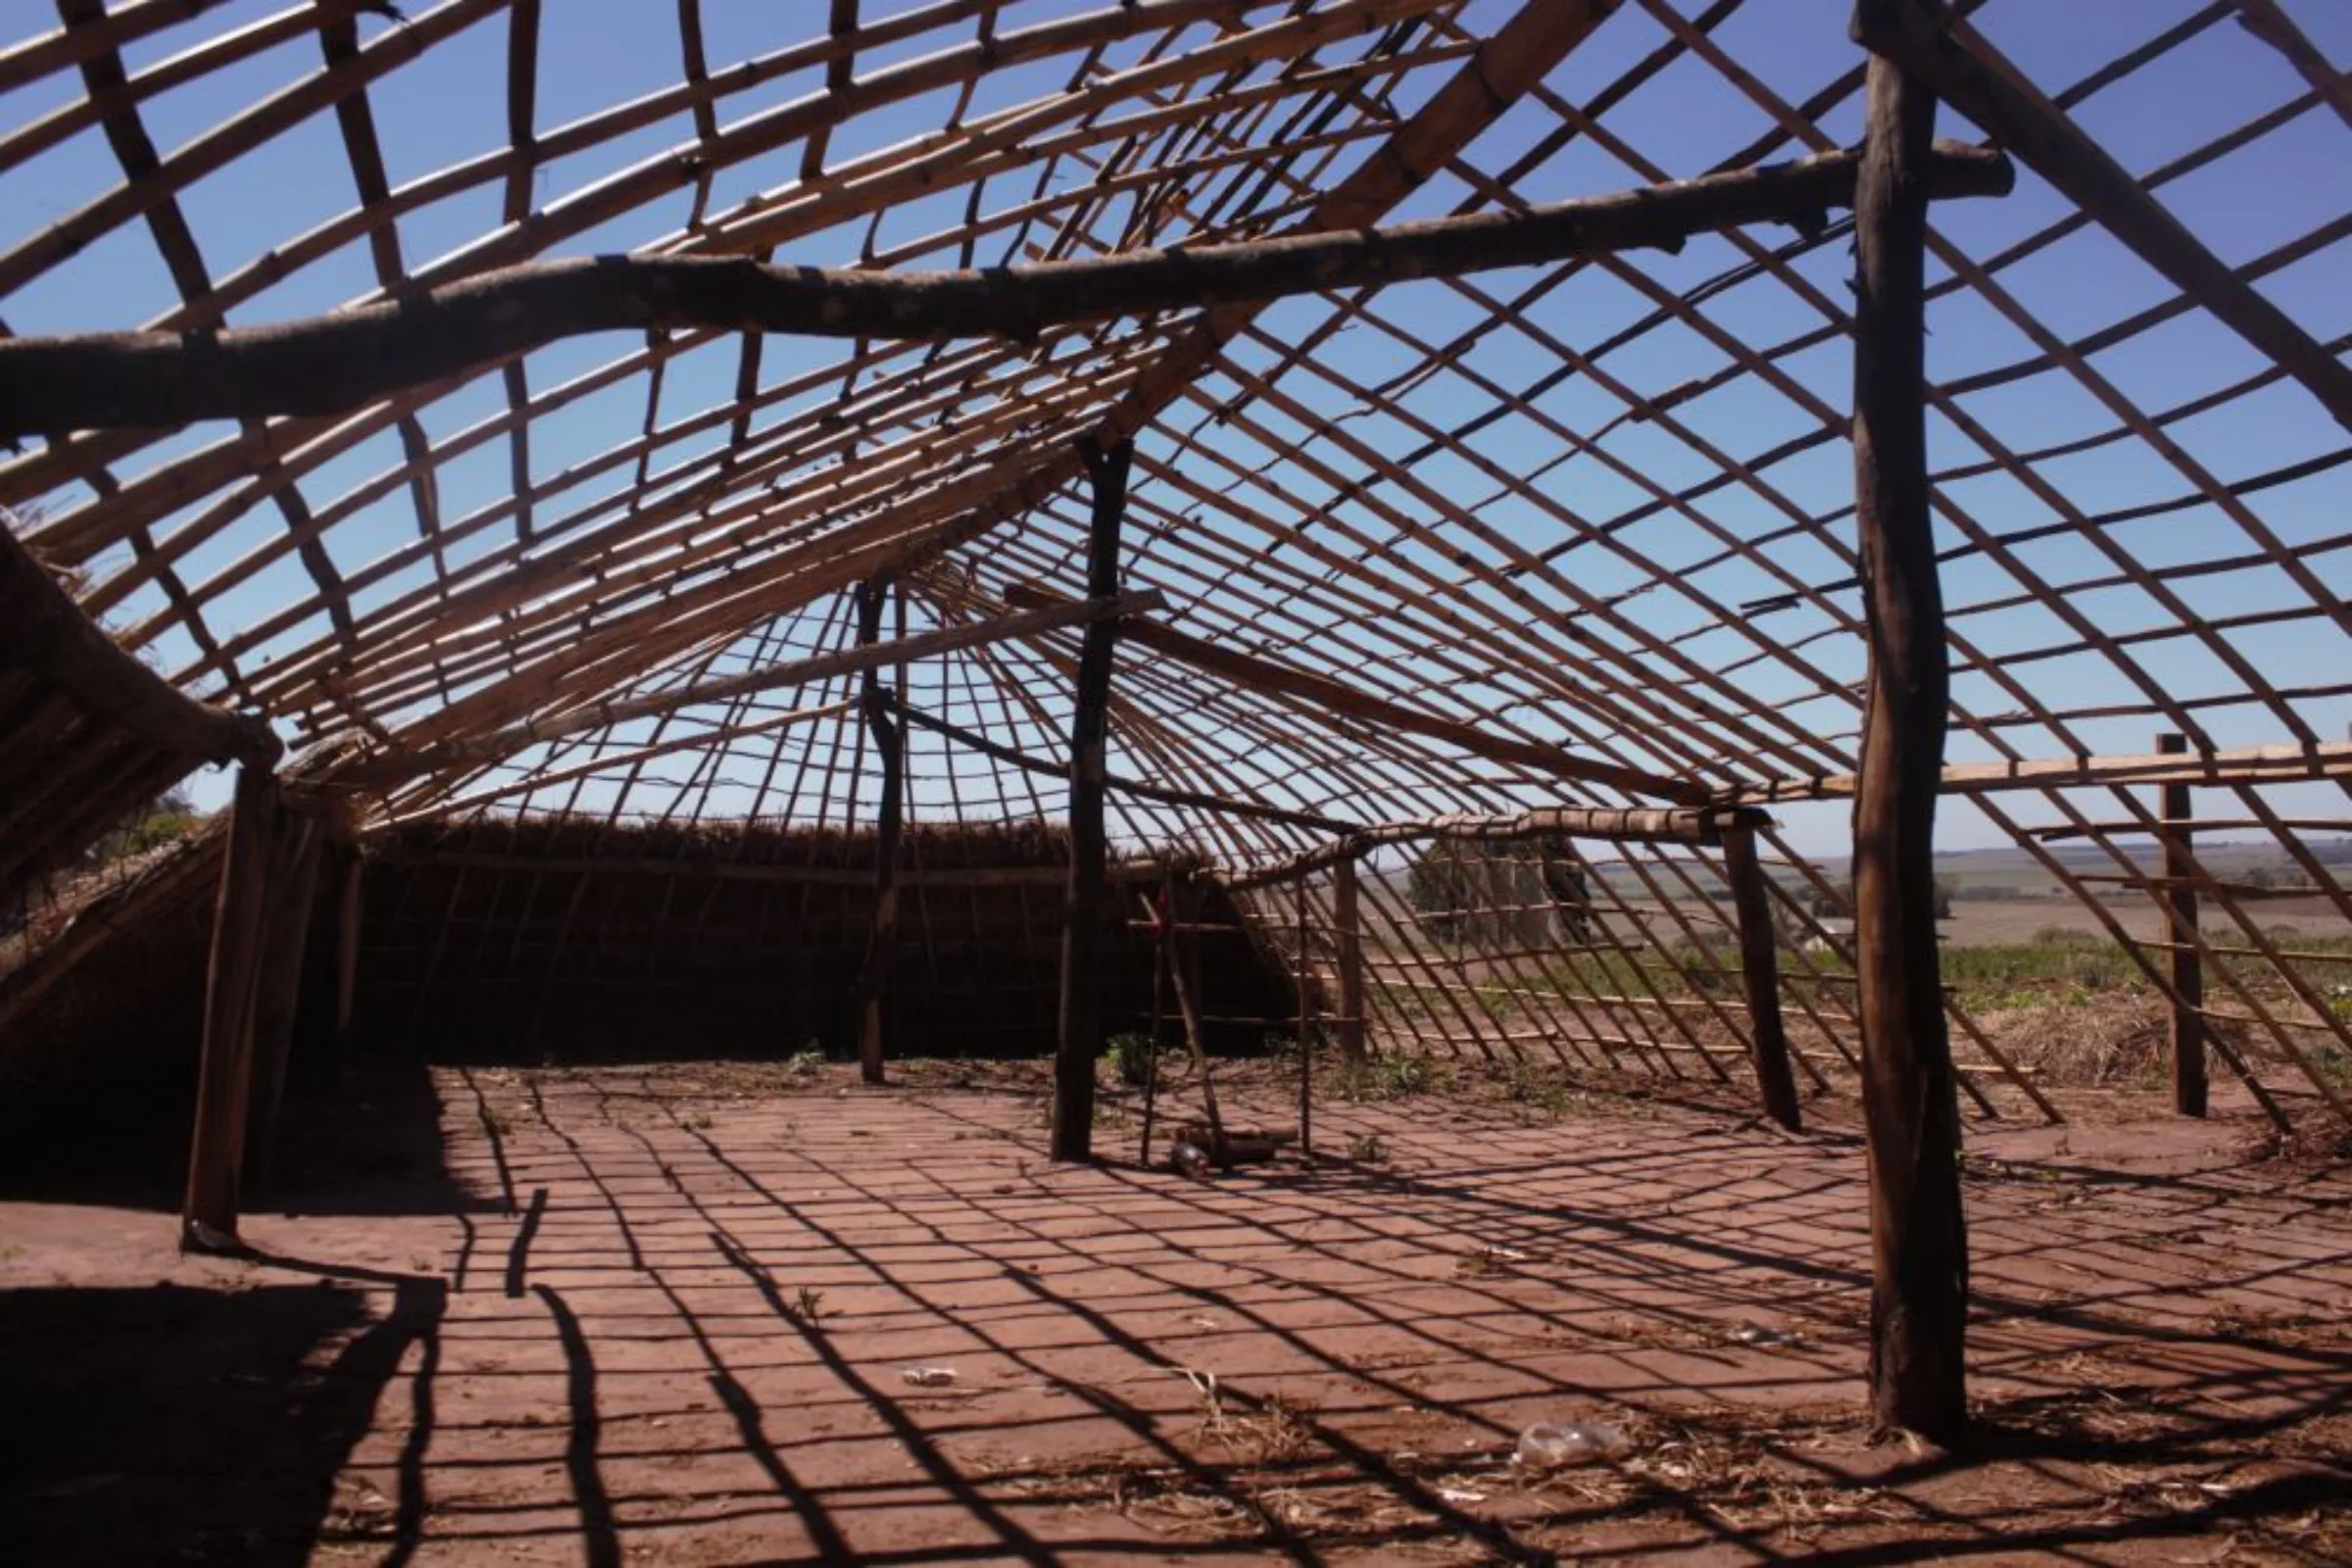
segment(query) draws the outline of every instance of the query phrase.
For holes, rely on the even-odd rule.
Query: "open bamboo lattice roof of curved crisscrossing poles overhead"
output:
[[[71,275],[78,252],[141,226],[179,292],[151,324],[172,329],[275,315],[285,284],[339,247],[365,252],[376,287],[397,294],[496,263],[576,254],[586,235],[602,240],[616,223],[635,223],[647,254],[781,254],[875,268],[1247,240],[1397,214],[1508,209],[1529,193],[1555,195],[1545,169],[1564,148],[1604,155],[1618,169],[1609,186],[1705,172],[1663,167],[1611,129],[1613,110],[1644,87],[1703,87],[1738,115],[1762,115],[1764,134],[1726,146],[1715,167],[1832,150],[1839,134],[1825,127],[1851,113],[1860,85],[1856,52],[1842,78],[1809,82],[1804,94],[1776,92],[1740,63],[1736,42],[1724,42],[1743,28],[1738,5],[1696,14],[1663,0],[1468,9],[1451,0],[835,5],[821,33],[715,63],[689,2],[675,38],[663,40],[677,49],[668,89],[550,127],[536,108],[541,7],[440,5],[400,21],[379,9],[325,2],[242,21],[219,12],[188,19],[205,7],[186,5],[61,7],[66,26],[12,49],[0,80],[24,89],[78,75],[82,92],[0,139],[0,169],[103,136],[120,172],[113,190],[16,235],[0,256],[0,289]],[[1971,35],[1971,47],[1999,63],[1999,7],[1980,21],[1985,35]],[[172,52],[125,63],[127,49],[158,45]],[[294,61],[303,47],[318,54],[310,68]],[[397,73],[496,49],[508,61],[506,146],[393,186],[386,146],[400,125],[376,103]],[[1578,73],[1581,49],[1606,49],[1611,68]],[[2209,5],[2161,31],[2117,38],[2098,68],[2039,92],[2082,110],[2133,73],[2216,49],[2274,52],[2277,106],[2140,179],[2161,193],[2227,162],[2237,176],[2284,186],[2288,172],[2265,165],[2265,150],[2281,127],[2343,118],[2347,94],[2277,5]],[[158,101],[259,59],[292,66],[282,89],[169,155],[158,150],[143,122]],[[1007,87],[1047,68],[1068,73],[1058,92]],[[793,73],[807,78],[807,92],[774,87]],[[868,127],[922,92],[955,99],[929,134],[842,150],[880,139]],[[612,155],[572,186],[541,188],[543,169],[572,169],[623,134],[642,141],[663,118],[691,134],[652,155]],[[1489,134],[1503,118],[1512,118],[1508,134]],[[1731,108],[1724,118],[1736,122]],[[259,158],[273,139],[327,127],[350,176],[336,216],[303,233],[198,235],[193,186]],[[722,176],[760,193],[729,205]],[[405,223],[466,190],[499,197],[499,226],[419,263]],[[960,195],[960,221],[908,216],[957,207],[941,193]],[[656,202],[666,197],[687,205],[684,223],[670,230],[659,228],[668,207]],[[2112,719],[2178,729],[2199,752],[2232,750],[2213,741],[2206,717],[2227,708],[2237,710],[2234,729],[2260,715],[2260,741],[2293,741],[2307,755],[2319,748],[2312,771],[2333,771],[2324,733],[2333,724],[2319,715],[2345,686],[2281,682],[2237,642],[2241,625],[2307,623],[2324,635],[2347,625],[2324,569],[2336,541],[2281,536],[2258,501],[2314,480],[2345,449],[2331,440],[2249,475],[2180,433],[2223,400],[2274,395],[2286,364],[2176,409],[2140,409],[2103,374],[2100,353],[2213,308],[2211,296],[2164,294],[2077,343],[2042,327],[2030,292],[2006,277],[2096,228],[2051,197],[2030,181],[2018,205],[2056,216],[2006,244],[1936,240],[1950,268],[1938,280],[1943,303],[1990,308],[2032,348],[1936,388],[1938,411],[1976,449],[1971,461],[1943,463],[1943,522],[1959,541],[1952,555],[2004,578],[1990,599],[1955,602],[1969,759],[2143,750],[2105,741],[2117,733]],[[2237,277],[2328,266],[2345,214],[2314,219]],[[915,233],[901,237],[908,228]],[[790,371],[760,336],[729,348],[715,334],[656,331],[621,353],[597,339],[588,367],[562,378],[539,367],[553,355],[524,355],[341,418],[42,444],[0,470],[0,496],[35,510],[28,538],[42,559],[80,574],[85,607],[183,689],[268,715],[296,748],[369,736],[445,743],[614,693],[659,691],[699,670],[840,646],[849,583],[915,541],[927,555],[908,581],[917,630],[985,616],[1016,581],[1070,592],[1082,517],[1073,442],[1141,433],[1136,508],[1150,531],[1129,578],[1167,592],[1185,628],[1343,672],[1367,691],[1496,733],[1566,743],[1708,790],[1785,799],[1820,792],[1820,780],[1853,762],[1856,604],[1851,548],[1839,543],[1844,515],[1820,505],[1802,475],[1778,477],[1797,475],[1806,454],[1844,435],[1830,378],[1797,369],[1844,327],[1837,294],[1820,268],[1809,270],[1839,247],[1835,226],[1797,240],[1740,230],[1693,244],[1670,268],[1672,280],[1642,261],[1602,259],[1503,282],[1418,282],[1284,306],[1279,329],[1251,308],[1162,313],[1035,343],[795,348],[807,367]],[[2107,242],[2100,252],[2124,268],[2145,266]],[[1632,289],[1639,315],[1573,336],[1578,313],[1566,301],[1604,287]],[[1726,301],[1743,289],[1773,289],[1776,308],[1809,320],[1778,339],[1740,336],[1745,315]],[[1432,310],[1461,327],[1421,329]],[[2314,322],[2296,336],[2340,350],[2340,327]],[[1378,386],[1362,381],[1357,357],[1331,348],[1348,331],[1378,339],[1381,353],[1409,367]],[[1665,386],[1621,376],[1616,367],[1635,362],[1630,348],[1658,334],[1691,334],[1717,362]],[[1498,339],[1519,355],[1482,353]],[[694,353],[703,355],[701,383],[710,381],[701,374],[708,362],[734,357],[731,397],[663,395]],[[1529,355],[1541,374],[1505,369]],[[2004,440],[1978,400],[2023,378],[2077,383],[2110,423],[2042,451],[2013,433]],[[1557,414],[1545,397],[1569,381],[1604,407],[1583,421]],[[1444,383],[1446,402],[1468,418],[1435,418],[1437,400],[1416,397],[1430,383]],[[503,393],[503,407],[485,409],[485,388]],[[642,400],[633,442],[562,468],[534,463],[534,433],[597,397],[609,428],[621,388]],[[1776,428],[1799,428],[1755,451],[1726,444],[1708,400],[1752,395],[1778,404]],[[1345,404],[1364,430],[1352,428]],[[1524,444],[1545,461],[1510,473],[1477,442],[1498,423],[1526,433]],[[1693,484],[1661,482],[1646,473],[1637,437],[1665,437],[1684,454],[1675,468],[1712,473]],[[2072,498],[2065,458],[2114,444],[2145,456],[2176,494],[2105,510]],[[445,515],[445,470],[494,465],[501,447],[506,494]],[[1430,465],[1486,494],[1472,501],[1430,482],[1421,475]],[[1576,473],[1628,503],[1585,503],[1566,482]],[[1969,491],[1994,475],[2020,487],[2049,522],[1994,522]],[[1510,520],[1498,522],[1503,515]],[[2145,515],[2194,515],[2218,531],[2218,548],[2150,567],[2117,541],[2117,529]],[[1656,548],[1651,541],[1668,534],[1661,522],[1682,543]],[[2037,569],[2030,543],[2060,531],[2098,552],[2093,569]],[[2216,616],[2187,585],[2218,569],[2277,574],[2291,602],[2241,621]],[[1599,590],[1588,576],[1618,583]],[[1733,599],[1719,581],[1757,592]],[[2154,621],[2119,625],[2077,604],[2114,590],[2145,595]],[[1649,602],[1628,609],[1637,599]],[[2016,602],[2053,618],[2051,632],[2030,646],[1978,646],[1971,616]],[[2234,686],[2173,689],[2145,668],[2138,649],[2150,642],[2197,646]],[[2074,710],[2020,672],[2074,656],[2105,661],[2136,701]],[[1018,750],[1051,752],[1054,691],[1063,684],[1056,658],[1051,644],[971,651],[941,665],[924,705]],[[750,783],[802,755],[854,752],[854,715],[828,703],[844,696],[847,686],[833,686],[689,710],[635,731],[590,731],[496,766],[414,780],[386,809],[494,802],[644,818],[854,818],[866,797],[851,766],[816,769],[814,795],[807,778],[790,795]],[[818,717],[786,722],[800,710]],[[1562,792],[1611,799],[1484,759],[1463,766],[1425,738],[1331,726],[1174,665],[1138,668],[1122,682],[1117,736],[1138,773],[1352,820],[1446,811],[1465,790],[1496,804]],[[917,813],[1049,804],[1018,773],[948,766],[946,745],[927,752],[917,743]],[[691,762],[682,776],[675,764],[647,769],[649,750]],[[614,764],[590,766],[600,755]],[[564,778],[532,788],[534,773]],[[1136,837],[1214,832],[1242,858],[1298,849],[1282,842],[1279,825],[1171,823],[1145,804],[1131,804],[1122,827]]]

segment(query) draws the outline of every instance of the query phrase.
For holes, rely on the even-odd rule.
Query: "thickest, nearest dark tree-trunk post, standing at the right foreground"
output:
[[[1886,7],[1860,0],[1856,33]],[[1969,1234],[1936,954],[1936,792],[1950,672],[1926,482],[1926,186],[1936,101],[1870,61],[1856,181],[1853,484],[1870,696],[1853,795],[1853,945],[1870,1145],[1870,1403],[1886,1429],[1966,1425]]]

